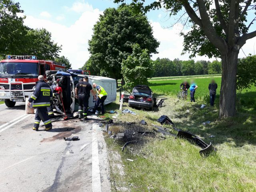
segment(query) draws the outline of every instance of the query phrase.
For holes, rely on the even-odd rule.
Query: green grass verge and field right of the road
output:
[[[219,94],[220,78],[215,79]],[[256,88],[242,93],[236,117],[219,119],[219,97],[216,98],[216,106],[210,107],[208,104],[209,81],[209,78],[196,79],[196,103],[176,98],[181,80],[150,81],[155,96],[168,98],[165,106],[148,111],[124,104],[123,109],[128,108],[137,115],[119,114],[115,125],[110,126],[109,130],[113,134],[138,129],[152,131],[152,124],[158,124],[156,120],[161,115],[167,115],[177,128],[188,130],[207,143],[212,142],[216,153],[202,157],[198,146],[172,136],[162,139],[161,134],[136,138],[143,142],[131,144],[122,152],[125,141],[113,140],[106,135],[111,151],[113,191],[256,191]],[[200,109],[201,104],[206,104],[206,108]],[[120,113],[119,98],[106,107]],[[106,114],[106,118],[112,118],[112,114]],[[146,126],[138,124],[142,119],[146,120]],[[210,124],[204,126],[204,121],[210,121]],[[136,124],[128,125],[125,122]]]

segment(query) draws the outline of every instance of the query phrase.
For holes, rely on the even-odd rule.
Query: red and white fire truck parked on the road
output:
[[[46,78],[47,70],[65,70],[65,66],[55,61],[38,60],[36,56],[8,55],[0,61],[0,100],[7,107],[23,102],[30,97],[38,75]]]

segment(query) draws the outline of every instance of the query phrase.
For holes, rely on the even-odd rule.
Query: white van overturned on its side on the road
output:
[[[83,78],[84,75],[60,71],[48,71],[46,75],[47,79],[49,80],[49,84],[56,83],[59,87],[62,88],[61,96],[65,111],[70,113],[78,111],[78,99],[75,97],[75,87],[79,82],[79,79]],[[90,84],[96,83],[97,85],[102,86],[108,93],[104,105],[116,101],[115,79],[91,75],[88,75],[88,78]],[[57,110],[64,111],[60,96],[54,98],[53,102]],[[93,97],[91,95],[89,98],[89,108],[94,108],[94,105],[95,102],[93,102]]]

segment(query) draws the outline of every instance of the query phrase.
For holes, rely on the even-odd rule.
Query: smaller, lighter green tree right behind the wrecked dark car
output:
[[[126,89],[131,89],[136,85],[147,85],[148,78],[154,74],[148,50],[141,49],[139,44],[135,44],[132,54],[122,61],[122,74]]]

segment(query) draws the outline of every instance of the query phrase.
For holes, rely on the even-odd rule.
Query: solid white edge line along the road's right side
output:
[[[97,127],[92,125],[92,192],[101,192]]]

